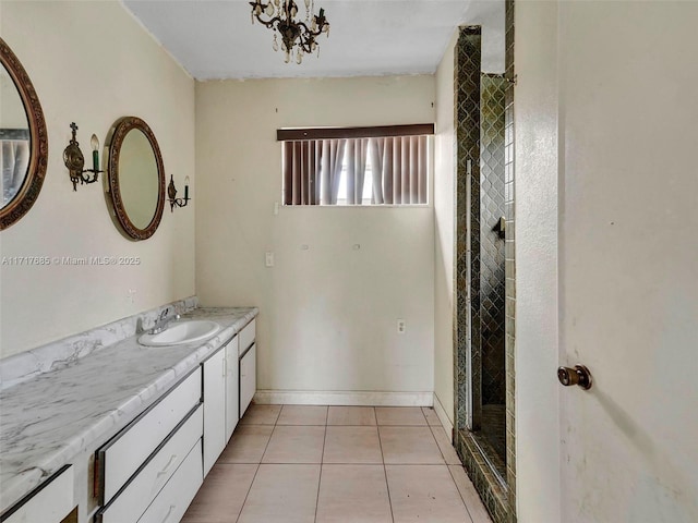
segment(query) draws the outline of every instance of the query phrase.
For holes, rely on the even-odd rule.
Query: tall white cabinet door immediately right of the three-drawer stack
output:
[[[204,367],[204,476],[226,447],[226,351],[219,350]]]

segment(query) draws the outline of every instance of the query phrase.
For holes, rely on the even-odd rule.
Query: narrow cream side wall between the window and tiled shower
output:
[[[434,394],[454,424],[454,49],[458,31],[436,70],[436,165],[434,173]]]

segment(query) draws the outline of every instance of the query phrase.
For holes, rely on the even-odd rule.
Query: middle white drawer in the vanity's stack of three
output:
[[[108,507],[103,509],[97,516],[97,522],[137,521],[177,467],[184,461],[189,451],[201,439],[203,428],[204,414],[203,408],[200,405],[131,483],[119,492]]]

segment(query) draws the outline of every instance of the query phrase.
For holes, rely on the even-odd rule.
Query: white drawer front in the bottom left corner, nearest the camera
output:
[[[17,508],[3,523],[59,523],[73,510],[73,467],[40,485],[24,504]]]

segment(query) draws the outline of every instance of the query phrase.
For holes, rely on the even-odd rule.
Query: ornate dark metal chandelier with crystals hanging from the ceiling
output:
[[[314,0],[305,0],[305,21],[296,20],[298,14],[298,5],[293,0],[268,0],[263,3],[262,0],[250,2],[252,5],[252,23],[256,19],[262,25],[274,31],[274,44],[272,47],[275,51],[279,47],[286,52],[286,63],[293,58],[293,48],[296,49],[296,63],[303,61],[303,54],[310,54],[320,48],[316,38],[325,33],[329,36],[329,24],[325,19],[325,10],[320,9],[320,14],[312,14],[314,10]],[[266,15],[267,20],[262,16]],[[312,19],[312,20],[311,20]],[[281,36],[281,45],[277,36]]]

